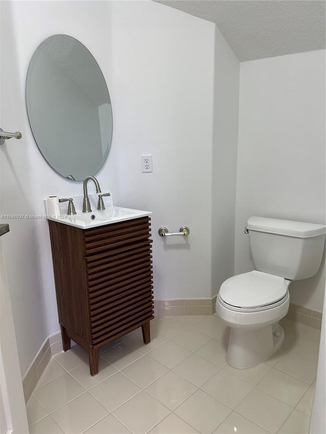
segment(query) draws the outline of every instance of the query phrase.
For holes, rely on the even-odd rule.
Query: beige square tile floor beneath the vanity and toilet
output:
[[[26,408],[31,434],[308,433],[320,332],[283,320],[274,357],[226,363],[228,329],[212,316],[170,316],[103,348],[89,374],[77,346],[53,357]]]

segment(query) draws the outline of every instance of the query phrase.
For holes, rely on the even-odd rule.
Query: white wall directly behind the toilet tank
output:
[[[325,51],[241,63],[235,273],[254,269],[250,216],[325,223]],[[291,302],[321,311],[324,264],[291,283]]]

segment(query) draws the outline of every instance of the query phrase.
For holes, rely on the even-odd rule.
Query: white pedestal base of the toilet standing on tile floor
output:
[[[231,328],[226,360],[237,369],[251,368],[273,356],[282,346],[284,330],[278,324],[260,329]]]

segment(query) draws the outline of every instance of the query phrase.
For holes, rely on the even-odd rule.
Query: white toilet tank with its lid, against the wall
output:
[[[326,226],[250,217],[247,229],[256,270],[289,280],[307,279],[317,273]]]

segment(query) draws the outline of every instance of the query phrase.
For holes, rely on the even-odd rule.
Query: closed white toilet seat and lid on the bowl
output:
[[[284,303],[288,298],[288,285],[283,277],[254,270],[227,279],[221,285],[218,298],[230,310],[262,311]]]

